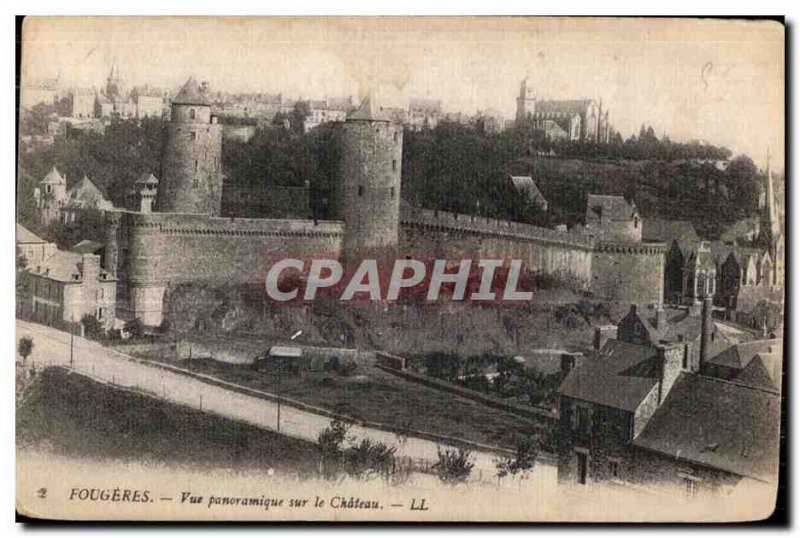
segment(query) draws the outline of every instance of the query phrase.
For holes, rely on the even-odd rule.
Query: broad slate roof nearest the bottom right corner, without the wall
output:
[[[777,479],[780,396],[682,373],[644,430],[638,447],[772,482]]]

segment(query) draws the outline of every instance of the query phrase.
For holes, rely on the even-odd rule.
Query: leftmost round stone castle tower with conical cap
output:
[[[222,204],[222,126],[194,78],[172,100],[157,199],[163,213],[218,216]]]

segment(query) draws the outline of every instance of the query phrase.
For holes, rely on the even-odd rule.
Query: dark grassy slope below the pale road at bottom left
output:
[[[17,408],[17,448],[93,460],[309,476],[317,447],[49,368]]]

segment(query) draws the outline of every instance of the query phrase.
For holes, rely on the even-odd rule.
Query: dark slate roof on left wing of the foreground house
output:
[[[570,371],[559,392],[634,412],[657,382],[654,347],[608,340],[596,358],[589,357]]]

